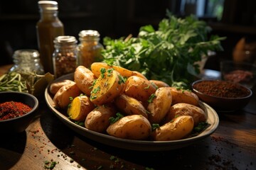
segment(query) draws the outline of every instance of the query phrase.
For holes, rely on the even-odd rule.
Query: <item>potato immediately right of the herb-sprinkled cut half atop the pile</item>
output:
[[[151,84],[149,80],[137,76],[129,77],[124,86],[124,94],[142,102],[149,100],[155,91],[156,86]]]

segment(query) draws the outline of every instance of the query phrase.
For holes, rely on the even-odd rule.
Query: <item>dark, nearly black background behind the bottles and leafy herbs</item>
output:
[[[139,28],[152,25],[166,17],[166,9],[184,17],[193,10],[181,11],[186,0],[61,0],[59,18],[65,26],[65,35],[78,38],[80,30],[98,30],[102,38],[137,36]],[[188,1],[188,0],[187,0]],[[196,0],[195,0],[196,1]],[[210,0],[205,0],[206,4]],[[242,37],[255,40],[256,1],[224,0],[223,16],[205,14],[200,19],[213,28],[212,34],[225,36],[220,57],[230,58],[233,47]],[[208,7],[204,9],[206,11]],[[40,16],[37,0],[9,0],[0,2],[0,65],[12,62],[11,55],[18,49],[38,49],[36,23]]]

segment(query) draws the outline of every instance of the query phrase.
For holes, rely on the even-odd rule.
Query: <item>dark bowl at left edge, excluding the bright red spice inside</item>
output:
[[[38,109],[38,99],[27,93],[16,91],[0,92],[0,103],[6,101],[21,102],[32,108],[28,113],[16,118],[0,120],[0,133],[23,132],[28,128]]]

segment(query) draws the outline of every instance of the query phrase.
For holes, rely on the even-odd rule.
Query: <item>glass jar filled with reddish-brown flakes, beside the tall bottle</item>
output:
[[[58,36],[54,40],[53,70],[55,78],[75,72],[77,67],[77,40],[73,36]]]

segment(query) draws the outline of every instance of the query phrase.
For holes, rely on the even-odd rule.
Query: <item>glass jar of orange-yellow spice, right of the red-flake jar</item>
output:
[[[102,61],[100,33],[97,30],[82,30],[79,33],[78,64],[90,68],[93,62]]]

